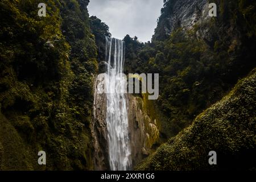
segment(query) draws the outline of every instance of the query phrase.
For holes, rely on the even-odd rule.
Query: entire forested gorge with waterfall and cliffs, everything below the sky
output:
[[[38,3],[0,3],[1,170],[255,170],[255,1],[164,0],[145,43],[89,0]],[[118,73],[159,74],[159,97]]]

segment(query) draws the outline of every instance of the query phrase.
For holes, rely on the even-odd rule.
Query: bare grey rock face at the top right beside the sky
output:
[[[165,40],[176,28],[189,30],[196,23],[207,21],[208,5],[207,0],[166,1],[152,39]]]

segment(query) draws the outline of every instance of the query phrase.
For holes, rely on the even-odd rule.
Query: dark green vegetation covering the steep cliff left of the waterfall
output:
[[[0,169],[93,169],[88,1],[49,0],[46,17],[38,3],[0,3]]]

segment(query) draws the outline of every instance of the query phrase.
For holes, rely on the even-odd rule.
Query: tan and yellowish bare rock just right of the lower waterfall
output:
[[[156,119],[152,120],[147,114],[141,97],[134,97],[131,94],[127,97],[131,157],[135,166],[145,156],[151,154],[152,147],[159,140],[159,127]]]

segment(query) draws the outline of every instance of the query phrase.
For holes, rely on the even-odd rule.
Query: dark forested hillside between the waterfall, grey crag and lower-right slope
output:
[[[166,138],[188,126],[256,66],[255,2],[216,2],[221,11],[217,18],[191,30],[177,24],[167,36],[161,27],[168,26],[174,3],[165,2],[152,43],[124,38],[126,73],[159,73],[155,109]]]

